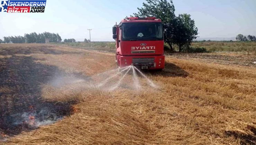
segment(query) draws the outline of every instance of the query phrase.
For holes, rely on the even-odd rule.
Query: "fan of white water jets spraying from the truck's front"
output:
[[[143,79],[146,79],[146,84],[142,84],[140,82]],[[91,77],[87,77],[85,79],[76,77],[57,77],[57,79],[53,80],[53,82],[55,83],[52,83],[52,86],[64,87],[65,89],[72,90],[98,88],[102,90],[111,91],[119,88],[120,86],[123,86],[124,88],[128,89],[140,90],[144,88],[143,85],[156,88],[156,85],[153,83],[153,81],[150,80],[138,68],[136,68],[133,65],[120,68],[119,71],[118,69],[112,69]],[[56,85],[56,82],[59,83]]]

